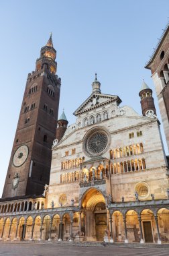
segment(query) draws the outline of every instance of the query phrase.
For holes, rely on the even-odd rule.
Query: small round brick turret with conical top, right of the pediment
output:
[[[145,117],[146,115],[156,115],[156,108],[154,105],[154,98],[152,97],[152,89],[144,82],[142,88],[139,92],[139,97],[141,98],[140,103],[142,106],[142,114]]]

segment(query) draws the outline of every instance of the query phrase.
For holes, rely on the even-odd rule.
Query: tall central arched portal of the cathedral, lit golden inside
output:
[[[107,229],[105,197],[97,189],[89,189],[82,197],[82,232],[87,241],[103,241]]]

